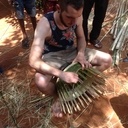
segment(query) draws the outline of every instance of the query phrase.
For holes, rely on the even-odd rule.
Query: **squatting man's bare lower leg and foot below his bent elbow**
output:
[[[57,96],[55,84],[53,82],[51,82],[51,76],[36,73],[35,82],[36,82],[38,89],[42,93],[44,93],[46,95],[51,95],[54,97],[54,103],[52,105],[53,116],[62,117],[62,110],[61,110],[60,101],[59,101],[59,98]]]

